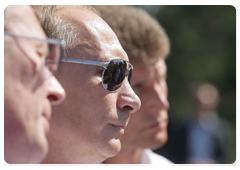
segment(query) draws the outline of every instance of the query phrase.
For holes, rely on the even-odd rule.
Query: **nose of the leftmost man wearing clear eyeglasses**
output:
[[[47,98],[52,105],[58,105],[66,98],[65,90],[54,76],[49,78]]]

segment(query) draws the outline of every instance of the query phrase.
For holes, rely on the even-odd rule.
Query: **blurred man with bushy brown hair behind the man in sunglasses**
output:
[[[134,65],[132,87],[142,105],[131,115],[118,155],[98,165],[175,165],[151,149],[167,141],[169,103],[167,100],[165,59],[169,39],[145,11],[127,6],[94,6],[116,33]]]

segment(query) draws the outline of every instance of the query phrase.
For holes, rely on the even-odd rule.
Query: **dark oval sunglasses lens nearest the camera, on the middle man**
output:
[[[108,64],[103,75],[103,86],[108,91],[117,90],[125,76],[127,71],[127,63],[121,59],[111,60]]]

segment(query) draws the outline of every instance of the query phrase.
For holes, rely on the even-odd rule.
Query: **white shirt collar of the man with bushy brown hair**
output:
[[[104,166],[103,163],[99,163],[95,166]],[[173,162],[167,158],[154,153],[151,149],[145,149],[140,157],[139,166],[176,166]]]

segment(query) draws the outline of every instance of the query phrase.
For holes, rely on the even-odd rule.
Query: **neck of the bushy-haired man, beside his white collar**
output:
[[[103,162],[106,166],[138,166],[142,149],[124,149],[122,148],[119,154],[115,157],[108,158]]]

